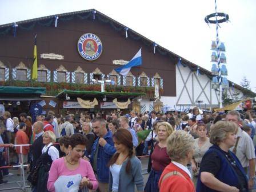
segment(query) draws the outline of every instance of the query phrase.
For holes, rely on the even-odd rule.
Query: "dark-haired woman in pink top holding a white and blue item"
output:
[[[49,191],[68,191],[68,189],[77,184],[80,187],[97,189],[98,182],[90,162],[81,158],[85,153],[86,141],[86,138],[81,134],[74,134],[70,137],[70,145],[67,148],[68,154],[65,157],[56,159],[51,165],[47,183]],[[71,181],[75,178],[81,179],[78,179],[78,183],[76,183],[77,180]],[[58,185],[58,183],[61,185]],[[59,187],[62,187],[63,190]]]

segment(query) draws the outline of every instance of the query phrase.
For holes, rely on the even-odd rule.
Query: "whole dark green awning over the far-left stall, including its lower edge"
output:
[[[32,101],[42,100],[45,87],[13,87],[0,86],[0,101]]]

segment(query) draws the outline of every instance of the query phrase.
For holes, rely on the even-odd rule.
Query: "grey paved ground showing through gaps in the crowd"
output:
[[[141,159],[142,162],[142,173],[144,177],[144,182],[146,183],[149,174],[147,174],[147,162],[148,158]],[[10,173],[13,173],[13,176],[4,177],[4,180],[8,180],[8,183],[4,185],[0,185],[0,191],[10,191],[10,192],[18,192],[18,191],[26,191],[31,192],[31,188],[29,187],[29,183],[26,182],[26,189],[23,188],[23,179],[21,176],[18,176],[18,170],[10,169]],[[25,171],[25,180],[27,178],[27,173]]]

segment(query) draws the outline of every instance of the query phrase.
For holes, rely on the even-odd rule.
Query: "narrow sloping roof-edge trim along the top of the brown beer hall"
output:
[[[25,23],[30,23],[30,22],[34,22],[34,21],[42,21],[42,20],[45,20],[45,19],[50,19],[50,18],[55,18],[55,17],[65,17],[65,16],[69,16],[69,15],[76,15],[76,14],[82,14],[82,13],[92,13],[93,14],[93,11],[96,11],[97,14],[99,15],[102,15],[103,17],[109,19],[110,21],[113,21],[114,23],[116,23],[117,25],[119,26],[122,26],[124,29],[125,25],[123,25],[122,23],[119,23],[118,21],[115,21],[114,19],[108,17],[107,15],[95,10],[95,9],[89,9],[89,10],[82,10],[82,11],[73,11],[73,12],[69,12],[69,13],[62,13],[62,14],[54,14],[54,15],[49,15],[49,16],[46,16],[46,17],[39,17],[39,18],[34,18],[34,19],[27,19],[27,20],[24,20],[24,21],[18,21],[18,22],[15,22],[16,24],[25,24]],[[4,25],[0,25],[0,29],[1,28],[4,28],[4,27],[10,27],[10,26],[13,26],[14,22],[12,23],[7,23],[7,24],[4,24]],[[127,27],[129,28],[129,27]],[[143,35],[137,33],[136,31],[132,30],[129,28],[129,31],[132,32],[133,34],[135,35],[138,35],[139,37],[143,38],[144,40],[148,41],[151,43],[151,45],[153,45],[154,41],[151,41],[150,39],[144,37]],[[210,77],[213,77],[213,75],[211,74],[211,71],[207,70],[207,69],[204,69],[202,68],[201,66],[198,66],[196,65],[195,63],[193,62],[190,62],[188,61],[187,59],[171,52],[170,50],[167,50],[165,47],[162,47],[161,45],[157,45],[157,49],[161,49],[163,51],[166,51],[168,53],[168,56],[171,57],[174,61],[175,61],[175,65],[177,65],[178,63],[178,60],[179,59],[182,59],[182,63],[185,64],[185,65],[189,65],[190,67],[194,68],[194,70],[197,70],[197,68],[199,67],[200,68],[200,71],[202,71],[203,73],[207,74],[207,76],[210,76]],[[229,80],[228,80],[229,81]],[[253,91],[251,90],[248,90],[248,89],[245,89],[243,88],[242,86],[238,85],[237,83],[234,83],[234,82],[231,82],[229,81],[229,83],[231,85],[234,84],[234,87],[237,88],[238,90],[241,90],[241,91],[250,91],[251,94],[254,94],[256,96],[256,93],[254,93]]]

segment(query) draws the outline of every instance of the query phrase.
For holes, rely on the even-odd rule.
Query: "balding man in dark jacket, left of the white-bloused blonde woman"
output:
[[[42,154],[42,149],[45,146],[43,144],[43,122],[37,121],[33,125],[33,132],[35,133],[35,141],[33,145],[30,147],[32,159],[30,161],[31,169],[36,165],[37,159]]]

